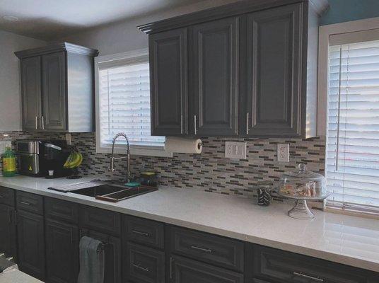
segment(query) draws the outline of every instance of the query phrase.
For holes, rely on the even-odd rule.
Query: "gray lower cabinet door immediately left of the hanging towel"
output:
[[[45,235],[47,282],[78,282],[78,227],[47,219]]]

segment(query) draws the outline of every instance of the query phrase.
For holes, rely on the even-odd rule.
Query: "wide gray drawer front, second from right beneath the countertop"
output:
[[[173,253],[243,271],[244,245],[240,241],[208,233],[171,227]]]

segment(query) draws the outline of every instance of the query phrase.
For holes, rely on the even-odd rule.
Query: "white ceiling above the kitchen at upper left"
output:
[[[54,40],[105,25],[204,0],[0,0],[0,30]],[[16,16],[18,21],[6,21]]]

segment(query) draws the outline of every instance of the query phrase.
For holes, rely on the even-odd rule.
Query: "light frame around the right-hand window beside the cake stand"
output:
[[[327,137],[327,107],[328,107],[328,91],[329,91],[329,52],[330,52],[330,36],[343,35],[348,33],[358,33],[368,30],[379,29],[379,17],[367,18],[358,21],[350,21],[345,23],[335,23],[332,25],[321,25],[319,28],[319,49],[318,49],[318,82],[317,82],[317,136]],[[326,156],[326,153],[325,153]],[[326,162],[326,158],[325,158]],[[326,164],[325,164],[326,166]],[[326,170],[326,169],[325,169]],[[354,216],[364,216],[373,219],[379,219],[379,214],[366,210],[363,206],[351,205],[351,208],[343,206],[326,205],[324,202],[324,210],[326,212],[337,212]]]

